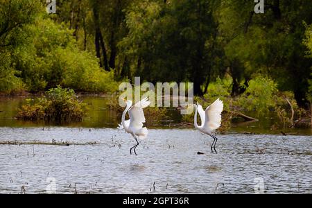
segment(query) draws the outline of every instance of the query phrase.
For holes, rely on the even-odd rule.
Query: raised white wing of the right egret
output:
[[[223,111],[223,101],[219,98],[209,105],[205,110],[204,128],[207,130],[216,130],[221,125],[221,112]]]

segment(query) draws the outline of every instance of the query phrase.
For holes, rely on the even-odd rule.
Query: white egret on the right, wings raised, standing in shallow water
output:
[[[212,135],[212,132],[220,127],[221,125],[221,112],[223,111],[223,101],[219,98],[214,101],[211,105],[209,105],[206,110],[202,109],[202,105],[194,104],[195,107],[195,114],[194,114],[194,125],[195,128],[200,130],[200,132],[209,135],[210,137],[214,138],[214,141],[211,144],[211,151],[212,148],[216,151],[216,142],[218,138]],[[197,112],[200,114],[200,125],[197,124]]]

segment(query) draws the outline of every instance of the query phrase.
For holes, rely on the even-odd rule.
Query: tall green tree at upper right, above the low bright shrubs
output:
[[[302,40],[304,21],[312,21],[312,2],[266,1],[264,14],[254,14],[252,1],[223,1],[222,8],[220,21],[233,91],[254,74],[266,73],[277,80],[279,89],[292,90],[304,105],[311,60],[305,56]]]

